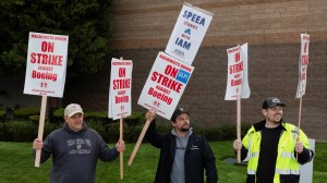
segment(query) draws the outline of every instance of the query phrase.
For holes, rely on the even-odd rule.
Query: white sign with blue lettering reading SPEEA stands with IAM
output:
[[[165,52],[192,65],[213,13],[184,3]]]

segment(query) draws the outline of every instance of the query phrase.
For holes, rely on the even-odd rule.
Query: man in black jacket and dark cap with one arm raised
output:
[[[177,108],[170,119],[172,130],[166,134],[157,132],[155,117],[150,110],[145,114],[152,121],[145,138],[160,148],[155,183],[216,183],[215,155],[207,139],[193,133],[189,112]]]

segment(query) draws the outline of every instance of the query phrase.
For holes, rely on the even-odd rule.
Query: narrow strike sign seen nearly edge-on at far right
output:
[[[301,52],[299,59],[299,84],[296,90],[296,98],[301,98],[305,94],[306,70],[308,64],[308,44],[310,35],[301,34]]]

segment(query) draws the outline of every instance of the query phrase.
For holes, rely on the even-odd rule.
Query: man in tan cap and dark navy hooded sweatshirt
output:
[[[33,155],[41,150],[40,162],[52,156],[51,183],[94,183],[97,160],[112,161],[125,149],[124,142],[108,148],[102,137],[83,121],[84,112],[80,105],[71,103],[64,109],[65,123],[50,133],[45,142],[33,142]]]

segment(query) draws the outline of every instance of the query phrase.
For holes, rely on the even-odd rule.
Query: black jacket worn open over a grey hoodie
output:
[[[158,134],[155,122],[152,122],[145,138],[153,146],[161,149],[155,183],[170,183],[170,172],[177,146],[175,136],[170,132],[165,135]],[[191,134],[184,160],[185,183],[203,183],[204,169],[206,170],[207,183],[218,181],[216,158],[204,136]]]

